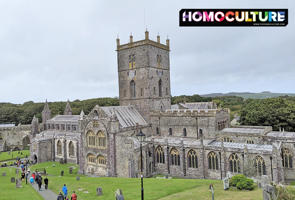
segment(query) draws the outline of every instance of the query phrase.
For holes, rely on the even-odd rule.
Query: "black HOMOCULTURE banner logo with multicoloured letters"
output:
[[[288,9],[181,9],[179,26],[286,26]]]

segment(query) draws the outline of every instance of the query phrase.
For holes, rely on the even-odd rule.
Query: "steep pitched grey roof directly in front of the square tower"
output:
[[[139,125],[148,124],[148,121],[137,110],[135,105],[120,105],[120,106],[104,106],[100,107],[109,117],[112,116],[112,112],[115,108],[115,113],[119,120],[119,127],[125,128],[128,126],[135,126],[135,123]]]

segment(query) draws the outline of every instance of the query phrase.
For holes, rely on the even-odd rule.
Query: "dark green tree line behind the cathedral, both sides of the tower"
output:
[[[181,95],[171,97],[171,104],[184,102],[211,102],[213,100],[217,107],[230,108],[230,116],[237,113],[240,116],[240,124],[247,126],[272,126],[274,131],[278,131],[279,127],[285,131],[295,132],[295,97],[288,95],[268,98],[268,99],[243,99],[237,96],[222,97],[201,97],[199,95]],[[66,102],[48,102],[51,110],[51,117],[59,114],[63,115]],[[96,98],[87,100],[74,100],[70,103],[73,115],[79,115],[83,108],[87,115],[95,105],[99,106],[117,106],[119,99],[117,98]],[[15,122],[22,124],[30,124],[34,114],[42,121],[42,110],[44,103],[34,103],[27,101],[23,104],[0,103],[0,123]]]

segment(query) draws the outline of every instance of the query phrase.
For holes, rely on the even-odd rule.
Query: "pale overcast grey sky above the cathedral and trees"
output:
[[[294,1],[0,0],[0,102],[114,97],[116,38],[170,39],[171,95],[295,93]],[[182,8],[289,9],[286,27],[179,27]],[[145,22],[144,22],[145,9]]]

